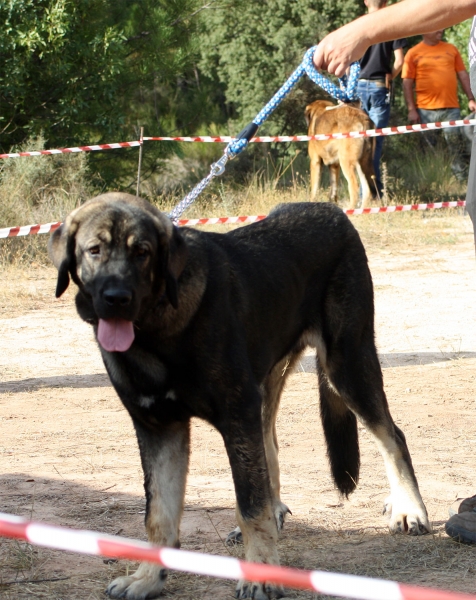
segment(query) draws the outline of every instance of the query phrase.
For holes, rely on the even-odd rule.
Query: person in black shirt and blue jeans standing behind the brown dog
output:
[[[364,2],[369,13],[375,12],[387,4],[387,0],[364,0]],[[406,45],[404,39],[374,44],[368,48],[360,60],[357,94],[363,110],[372,119],[376,128],[388,126],[391,82],[402,70],[403,48]],[[375,139],[374,152],[375,187],[379,197],[383,194],[380,175],[383,139],[383,137]]]

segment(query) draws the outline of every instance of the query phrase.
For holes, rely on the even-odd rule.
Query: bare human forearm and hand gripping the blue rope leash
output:
[[[341,77],[372,44],[444,29],[476,14],[476,0],[403,0],[326,36],[314,64]]]

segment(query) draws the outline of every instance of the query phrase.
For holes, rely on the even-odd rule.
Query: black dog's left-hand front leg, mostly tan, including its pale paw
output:
[[[189,423],[163,425],[152,432],[134,423],[144,471],[145,526],[149,542],[178,548],[188,469]],[[167,573],[159,565],[142,563],[127,577],[118,577],[107,588],[111,598],[156,598]]]

